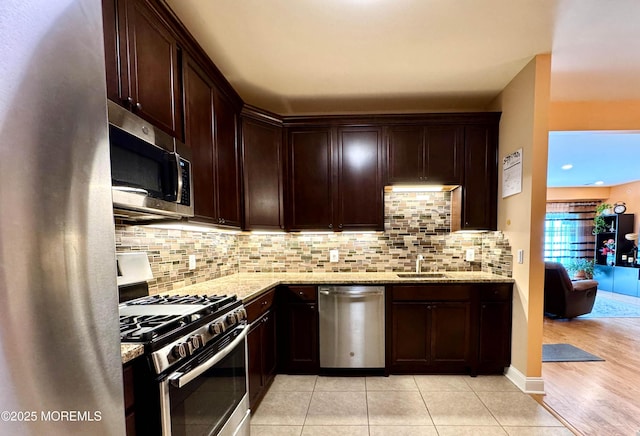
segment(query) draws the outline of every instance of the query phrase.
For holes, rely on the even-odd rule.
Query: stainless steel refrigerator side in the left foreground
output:
[[[0,434],[120,435],[100,0],[0,2]]]

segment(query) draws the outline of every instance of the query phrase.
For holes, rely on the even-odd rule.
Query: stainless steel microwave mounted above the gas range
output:
[[[189,149],[108,101],[111,187],[116,218],[129,221],[193,216]]]

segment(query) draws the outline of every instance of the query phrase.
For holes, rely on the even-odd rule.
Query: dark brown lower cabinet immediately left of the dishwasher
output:
[[[316,287],[283,286],[278,292],[281,369],[289,374],[317,374],[320,358]]]

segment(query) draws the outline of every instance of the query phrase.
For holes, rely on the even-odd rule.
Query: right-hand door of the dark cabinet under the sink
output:
[[[471,303],[430,303],[431,365],[464,370],[471,358]]]

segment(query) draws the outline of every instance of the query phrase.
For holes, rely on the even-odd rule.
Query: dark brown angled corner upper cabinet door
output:
[[[243,118],[244,228],[284,228],[282,128]]]

